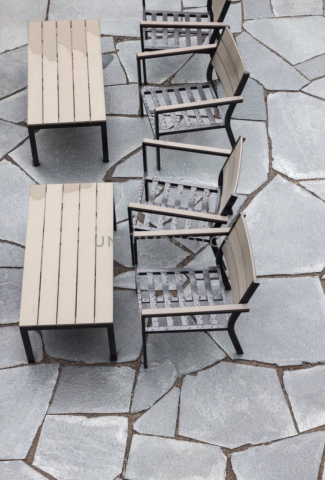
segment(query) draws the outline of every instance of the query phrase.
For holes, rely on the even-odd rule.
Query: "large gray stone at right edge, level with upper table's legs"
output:
[[[293,179],[325,178],[323,100],[300,92],[267,97],[273,168]]]

